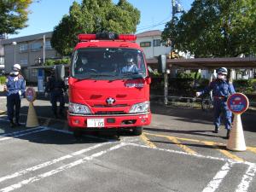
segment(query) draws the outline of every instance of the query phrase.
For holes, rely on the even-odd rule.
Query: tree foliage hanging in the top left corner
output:
[[[32,0],[0,0],[0,34],[14,34],[26,27],[31,3]]]

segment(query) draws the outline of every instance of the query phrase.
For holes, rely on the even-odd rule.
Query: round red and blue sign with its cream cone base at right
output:
[[[241,125],[241,113],[247,110],[249,101],[247,96],[242,93],[235,93],[229,96],[227,104],[230,111],[234,113],[234,123],[230,131],[227,148],[233,151],[245,151],[247,147]]]

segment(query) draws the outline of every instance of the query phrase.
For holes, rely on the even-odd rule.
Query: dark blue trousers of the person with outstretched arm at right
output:
[[[232,113],[230,112],[230,109],[227,106],[227,102],[224,100],[214,100],[214,125],[219,126],[220,125],[220,114],[224,114],[224,125],[227,130],[231,129],[231,123],[232,123]]]

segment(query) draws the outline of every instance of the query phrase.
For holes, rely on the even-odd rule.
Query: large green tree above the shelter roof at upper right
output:
[[[195,57],[256,53],[255,0],[195,0],[191,9],[166,24],[163,40]]]

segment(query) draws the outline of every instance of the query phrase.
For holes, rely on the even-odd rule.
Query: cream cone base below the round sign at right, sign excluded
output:
[[[230,131],[230,139],[227,143],[227,148],[233,151],[247,150],[241,125],[241,114],[235,114],[234,116],[234,125]]]

